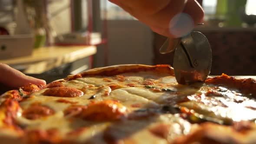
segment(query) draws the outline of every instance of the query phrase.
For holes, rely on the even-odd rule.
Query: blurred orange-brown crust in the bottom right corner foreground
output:
[[[172,144],[254,144],[255,131],[248,135],[234,131],[230,126],[206,122],[192,133],[178,137]]]

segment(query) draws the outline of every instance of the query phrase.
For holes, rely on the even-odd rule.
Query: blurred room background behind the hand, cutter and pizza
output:
[[[198,0],[211,75],[256,75],[256,0]],[[118,64],[170,64],[166,37],[108,0],[0,0],[0,62],[55,79]]]

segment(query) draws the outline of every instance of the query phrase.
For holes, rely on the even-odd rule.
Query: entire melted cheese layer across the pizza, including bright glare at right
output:
[[[146,87],[144,81],[149,81],[148,83],[152,85]],[[220,120],[240,121],[256,118],[256,101],[239,93],[236,89],[217,88],[220,89],[220,92],[215,92],[215,85],[202,83],[190,86],[179,85],[174,76],[166,74],[137,72],[121,74],[119,78],[115,76],[83,77],[62,82],[62,85],[77,88],[84,92],[84,95],[76,98],[61,98],[43,95],[47,88],[40,90],[33,93],[30,98],[21,101],[21,108],[26,110],[31,105],[39,104],[53,109],[55,114],[36,120],[29,120],[18,115],[16,122],[27,130],[57,128],[62,137],[81,143],[105,144],[104,135],[113,130],[109,132],[110,135],[120,143],[167,144],[180,135],[189,134],[191,128],[197,124],[190,124],[178,114],[152,115],[138,120],[93,122],[64,116],[63,111],[72,105],[86,106],[92,101],[110,99],[117,100],[121,105],[124,105],[128,109],[127,115],[144,109],[160,111],[163,105],[173,106],[177,104],[193,110],[199,115]],[[112,89],[111,85],[118,85],[118,87]],[[215,93],[209,94],[208,92],[211,90]],[[95,96],[92,97],[93,95]],[[58,101],[60,99],[67,102]],[[0,101],[2,100],[3,98],[0,98]],[[0,113],[0,118],[3,116],[3,113]],[[166,138],[159,137],[149,131],[158,125],[168,126],[167,133],[160,129],[160,133],[165,132]],[[75,136],[67,135],[79,128],[86,128],[86,130]]]

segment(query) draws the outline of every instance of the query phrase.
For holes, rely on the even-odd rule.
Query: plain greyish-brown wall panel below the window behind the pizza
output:
[[[138,20],[108,20],[108,65],[153,64],[153,32]],[[95,67],[104,66],[98,48]]]

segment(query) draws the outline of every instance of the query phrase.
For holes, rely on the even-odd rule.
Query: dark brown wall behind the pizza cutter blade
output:
[[[213,61],[210,75],[256,75],[255,28],[197,28],[209,40]],[[154,64],[173,64],[174,52],[162,55],[164,36],[155,34]]]

